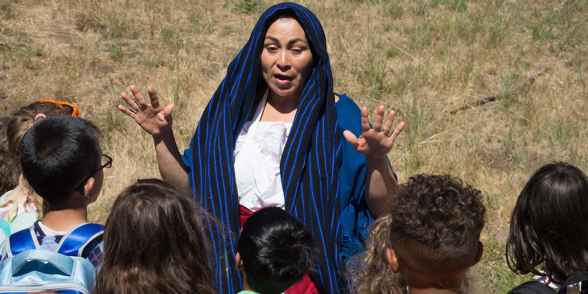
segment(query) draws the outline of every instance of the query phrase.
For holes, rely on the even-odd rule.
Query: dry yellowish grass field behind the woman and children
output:
[[[483,191],[489,213],[476,292],[506,293],[528,279],[504,259],[522,185],[551,161],[588,172],[588,3],[300,3],[325,28],[336,92],[370,109],[382,103],[406,121],[389,154],[399,181],[449,173]],[[120,93],[152,85],[175,103],[174,132],[187,148],[226,66],[271,4],[0,0],[2,115],[51,98],[75,103],[100,126],[114,162],[89,218],[103,222],[124,186],[159,176],[151,138],[116,109]]]

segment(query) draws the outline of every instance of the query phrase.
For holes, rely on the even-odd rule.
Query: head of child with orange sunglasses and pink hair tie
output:
[[[27,202],[32,202],[37,208],[39,216],[44,216],[46,212],[46,203],[36,195],[35,191],[29,187],[26,180],[21,176],[21,162],[19,160],[18,146],[21,143],[22,137],[26,131],[47,116],[52,115],[73,115],[78,116],[78,109],[75,106],[69,106],[67,103],[51,102],[50,100],[43,100],[33,102],[29,105],[23,106],[18,111],[12,113],[3,119],[5,125],[0,126],[0,169],[9,169],[11,172],[10,182],[6,182],[6,191],[15,188],[16,185],[21,185],[21,191],[27,195]],[[4,172],[2,172],[2,181],[6,181]],[[4,184],[3,187],[4,188]]]

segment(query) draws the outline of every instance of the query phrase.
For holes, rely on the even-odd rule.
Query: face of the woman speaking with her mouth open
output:
[[[280,18],[263,41],[261,71],[269,89],[285,98],[300,98],[312,70],[312,52],[298,21]]]

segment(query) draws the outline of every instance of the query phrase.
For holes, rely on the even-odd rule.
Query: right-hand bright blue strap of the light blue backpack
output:
[[[88,243],[98,238],[104,233],[104,226],[98,223],[81,223],[74,229],[71,229],[61,239],[55,252],[68,256],[83,257],[83,249]]]

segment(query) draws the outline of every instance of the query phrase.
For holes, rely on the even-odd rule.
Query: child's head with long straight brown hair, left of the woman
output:
[[[214,293],[200,217],[161,180],[125,188],[106,219],[94,293]]]

